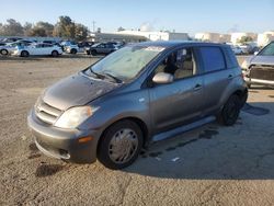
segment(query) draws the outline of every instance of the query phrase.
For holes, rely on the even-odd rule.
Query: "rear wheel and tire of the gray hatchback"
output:
[[[240,114],[240,98],[236,94],[231,95],[217,115],[218,122],[226,126],[233,125]]]

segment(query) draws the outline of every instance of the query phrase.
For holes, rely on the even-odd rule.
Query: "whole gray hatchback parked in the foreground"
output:
[[[217,118],[232,125],[248,96],[227,45],[125,46],[46,89],[27,117],[37,148],[122,169],[141,148]]]

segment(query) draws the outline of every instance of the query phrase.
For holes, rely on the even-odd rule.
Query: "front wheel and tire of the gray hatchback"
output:
[[[144,141],[140,127],[132,121],[115,123],[101,138],[98,159],[113,170],[130,165],[137,159]]]

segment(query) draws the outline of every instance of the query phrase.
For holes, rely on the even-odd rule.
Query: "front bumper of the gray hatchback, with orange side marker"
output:
[[[27,125],[34,136],[37,148],[48,157],[76,163],[96,161],[98,130],[61,129],[41,122],[32,110]],[[82,137],[92,137],[87,142],[79,142]]]

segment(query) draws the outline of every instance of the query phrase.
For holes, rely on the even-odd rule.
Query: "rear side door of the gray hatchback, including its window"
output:
[[[231,69],[227,69],[224,50],[219,46],[199,47],[203,62],[205,114],[220,107],[220,98],[233,78]]]

